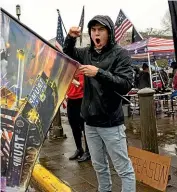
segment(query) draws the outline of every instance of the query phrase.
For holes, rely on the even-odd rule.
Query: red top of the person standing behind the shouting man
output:
[[[84,76],[82,74],[77,75],[74,78],[76,81],[78,81],[80,83],[80,85],[77,87],[76,85],[74,85],[73,83],[71,83],[68,92],[67,92],[67,96],[69,99],[79,99],[83,97],[84,94]]]

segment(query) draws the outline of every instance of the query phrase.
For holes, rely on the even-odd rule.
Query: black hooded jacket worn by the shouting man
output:
[[[95,16],[89,23],[103,24],[109,32],[107,45],[98,53],[91,40],[90,47],[76,48],[76,38],[66,37],[63,51],[84,65],[99,68],[95,77],[85,77],[84,97],[81,115],[86,124],[96,127],[113,127],[124,123],[122,99],[117,94],[125,95],[133,82],[131,59],[126,50],[115,43],[114,24],[108,16]]]

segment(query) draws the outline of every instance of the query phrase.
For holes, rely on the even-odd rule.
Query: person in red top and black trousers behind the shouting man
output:
[[[77,148],[75,153],[71,157],[69,157],[69,160],[78,159],[78,162],[90,160],[90,153],[85,137],[84,120],[80,116],[81,104],[83,98],[83,84],[84,84],[84,77],[82,74],[78,74],[71,83],[69,90],[67,92],[68,121],[71,126],[74,141]],[[82,132],[85,141],[85,152],[82,147]]]

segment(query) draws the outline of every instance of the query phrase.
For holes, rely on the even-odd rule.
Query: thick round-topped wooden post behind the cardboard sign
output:
[[[158,154],[154,93],[155,91],[150,88],[144,88],[138,91],[140,127],[142,149]]]

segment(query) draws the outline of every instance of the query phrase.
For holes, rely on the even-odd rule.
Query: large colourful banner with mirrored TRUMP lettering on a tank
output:
[[[25,191],[79,63],[0,12],[1,191]]]

